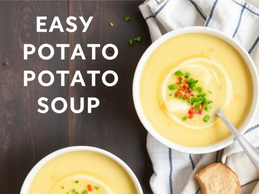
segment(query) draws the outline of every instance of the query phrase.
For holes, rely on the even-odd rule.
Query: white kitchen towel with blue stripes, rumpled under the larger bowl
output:
[[[238,0],[148,0],[139,6],[147,22],[152,41],[174,29],[206,26],[233,37],[248,51],[259,66],[259,10]],[[253,107],[252,107],[253,108]],[[259,111],[244,136],[259,147]],[[235,142],[214,153],[188,154],[172,150],[147,136],[147,149],[154,174],[150,186],[154,194],[198,194],[193,176],[214,162],[231,167],[239,176],[241,193],[259,193],[259,173]]]

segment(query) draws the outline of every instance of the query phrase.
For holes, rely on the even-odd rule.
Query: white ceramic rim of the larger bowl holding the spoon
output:
[[[202,154],[202,153],[214,152],[214,151],[220,150],[220,149],[232,144],[235,141],[234,136],[231,136],[225,140],[222,140],[217,144],[213,144],[213,145],[205,146],[205,147],[187,147],[187,146],[182,146],[182,145],[176,144],[176,143],[168,140],[166,137],[160,135],[154,129],[152,124],[148,121],[147,117],[145,116],[145,114],[143,112],[142,104],[141,104],[140,81],[141,81],[142,71],[145,67],[148,57],[163,42],[167,41],[168,39],[170,39],[174,36],[177,36],[180,34],[186,34],[186,33],[204,33],[204,34],[210,34],[210,35],[216,36],[216,37],[226,41],[231,46],[233,46],[239,52],[239,54],[243,57],[244,61],[246,62],[247,66],[248,66],[251,77],[252,77],[253,99],[252,99],[251,109],[250,109],[245,121],[240,126],[239,131],[241,133],[244,133],[248,129],[250,122],[254,119],[256,110],[258,110],[258,85],[259,85],[258,84],[258,80],[259,80],[258,72],[256,70],[255,64],[254,64],[253,60],[251,59],[250,55],[241,46],[241,44],[239,44],[232,37],[228,37],[223,32],[215,30],[213,28],[200,27],[200,26],[181,28],[178,30],[168,32],[168,33],[164,34],[162,37],[160,37],[159,39],[157,39],[155,42],[153,42],[148,47],[148,49],[145,51],[145,53],[142,55],[142,57],[139,60],[138,66],[136,67],[136,71],[135,71],[134,79],[133,79],[133,101],[134,101],[136,112],[139,116],[140,121],[144,125],[144,127],[154,138],[156,138],[162,144],[164,144],[174,150],[178,150],[178,151],[186,152],[186,153]]]

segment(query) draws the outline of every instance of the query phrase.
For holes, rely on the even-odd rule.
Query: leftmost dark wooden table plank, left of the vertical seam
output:
[[[40,97],[67,98],[67,88],[60,87],[60,81],[43,87],[37,77],[23,86],[24,70],[32,70],[37,76],[42,70],[67,69],[67,61],[61,61],[59,55],[49,61],[38,54],[23,60],[24,43],[32,43],[37,49],[43,43],[67,42],[67,33],[37,33],[36,16],[59,16],[64,23],[67,2],[0,2],[0,61],[9,60],[8,66],[0,65],[0,193],[18,193],[41,158],[67,146],[67,113],[37,112]],[[47,26],[50,24],[48,20]]]

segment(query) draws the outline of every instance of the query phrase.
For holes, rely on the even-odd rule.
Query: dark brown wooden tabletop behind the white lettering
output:
[[[119,156],[134,171],[144,193],[152,193],[149,178],[152,165],[146,150],[147,132],[140,123],[132,100],[132,80],[135,67],[150,44],[145,20],[138,9],[142,1],[1,1],[0,2],[0,61],[6,59],[9,65],[0,65],[0,193],[19,193],[30,169],[47,154],[67,146],[96,146]],[[128,14],[131,19],[125,22]],[[49,29],[54,16],[59,16],[66,26],[68,16],[83,16],[93,20],[86,33],[53,32],[37,33],[36,16],[47,16]],[[110,27],[112,21],[115,25]],[[78,28],[83,26],[77,19]],[[65,27],[66,28],[66,27]],[[130,47],[128,39],[142,36],[141,43]],[[55,49],[52,59],[45,61],[38,54],[23,60],[24,43],[32,43],[36,49],[44,43],[55,46],[69,43],[66,59],[60,59],[60,50]],[[88,60],[76,57],[68,60],[76,43],[80,43]],[[90,60],[91,49],[87,43],[115,44],[118,57],[108,61],[97,50],[96,60]],[[23,71],[32,70],[38,76],[42,70],[52,71],[55,82],[43,87],[34,81],[23,86]],[[69,70],[66,86],[60,86],[56,70]],[[86,87],[76,84],[70,87],[74,72],[80,70]],[[91,87],[91,76],[87,70],[113,70],[119,76],[113,87],[103,85],[97,76],[96,87]],[[69,101],[80,97],[96,97],[98,108],[87,113],[87,106],[80,114],[70,109],[62,114],[51,109],[46,114],[37,112],[40,97],[56,97]]]

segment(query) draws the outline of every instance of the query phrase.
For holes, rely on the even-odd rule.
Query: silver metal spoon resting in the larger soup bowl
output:
[[[221,118],[221,120],[227,125],[228,129],[233,133],[235,138],[238,140],[239,144],[244,149],[244,152],[248,155],[249,159],[255,166],[257,170],[259,170],[259,151],[244,138],[241,133],[229,122],[227,117],[222,113],[222,110],[219,109],[216,114]]]

